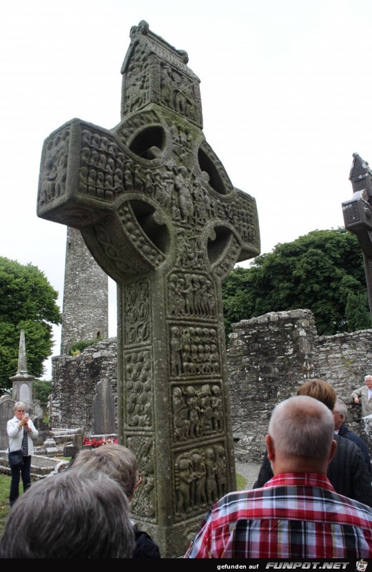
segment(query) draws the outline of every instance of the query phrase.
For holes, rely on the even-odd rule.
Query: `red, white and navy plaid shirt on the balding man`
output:
[[[205,515],[184,558],[372,557],[372,509],[319,473],[282,473],[229,493]]]

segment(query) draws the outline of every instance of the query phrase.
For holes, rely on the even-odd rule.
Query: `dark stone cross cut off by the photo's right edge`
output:
[[[344,225],[353,232],[363,252],[364,273],[372,320],[372,171],[369,164],[353,153],[349,180],[353,185],[353,198],[342,203]]]

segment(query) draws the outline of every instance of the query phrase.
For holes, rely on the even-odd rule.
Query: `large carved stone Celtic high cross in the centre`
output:
[[[187,53],[145,21],[130,37],[121,123],[72,119],[45,139],[38,216],[80,229],[118,285],[118,433],[143,476],[132,514],[174,558],[236,487],[221,280],[260,236],[256,201],[205,141]]]

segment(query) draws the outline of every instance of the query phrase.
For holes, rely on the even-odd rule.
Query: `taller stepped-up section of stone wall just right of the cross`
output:
[[[270,312],[233,325],[227,362],[236,458],[260,462],[271,411],[313,377],[309,310]]]

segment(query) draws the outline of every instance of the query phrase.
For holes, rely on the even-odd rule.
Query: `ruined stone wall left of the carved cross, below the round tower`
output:
[[[79,427],[90,435],[94,396],[99,382],[107,379],[117,400],[116,338],[85,348],[78,356],[52,358],[52,427]],[[117,411],[115,412],[117,421]]]

